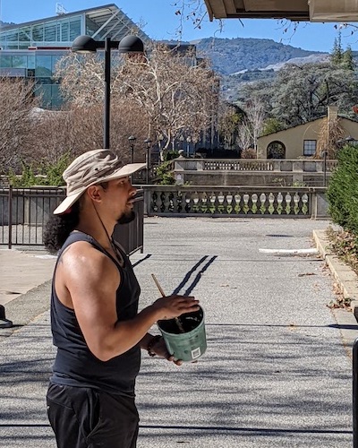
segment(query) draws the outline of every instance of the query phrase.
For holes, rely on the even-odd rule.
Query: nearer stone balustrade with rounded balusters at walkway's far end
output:
[[[326,218],[325,188],[158,186],[144,187],[147,215]]]

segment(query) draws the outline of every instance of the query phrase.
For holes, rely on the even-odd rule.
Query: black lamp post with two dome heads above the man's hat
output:
[[[103,148],[109,149],[110,132],[110,101],[111,101],[111,50],[118,49],[120,53],[143,53],[144,45],[137,36],[125,36],[121,41],[95,40],[90,36],[79,36],[72,42],[72,51],[76,53],[95,53],[98,49],[105,50],[105,100],[103,111]]]

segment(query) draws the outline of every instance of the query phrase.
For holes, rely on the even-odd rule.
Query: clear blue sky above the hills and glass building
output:
[[[201,0],[202,4],[204,3]],[[115,3],[127,14],[133,22],[141,25],[151,39],[177,39],[181,27],[180,17],[175,15],[178,6],[175,0],[62,0],[59,2],[68,13],[88,9],[104,4]],[[0,0],[0,20],[3,22],[30,22],[55,16],[56,2],[52,0]],[[203,7],[203,11],[206,9]],[[183,17],[185,14],[183,14]],[[276,20],[226,19],[221,29],[218,21],[209,22],[206,17],[201,28],[195,29],[191,20],[183,20],[183,41],[192,41],[209,37],[217,38],[256,38],[273,39],[293,47],[301,47],[311,51],[329,52],[332,50],[337,30],[334,23],[299,24],[294,32],[293,26],[288,27]],[[350,45],[358,50],[358,33],[351,35],[350,30],[342,30],[342,47]]]

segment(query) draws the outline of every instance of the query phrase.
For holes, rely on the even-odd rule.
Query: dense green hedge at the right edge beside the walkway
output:
[[[358,237],[358,148],[345,146],[328,185],[328,212],[333,222]]]

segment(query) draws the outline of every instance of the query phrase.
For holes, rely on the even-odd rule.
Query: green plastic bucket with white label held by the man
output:
[[[179,317],[181,332],[175,319],[158,321],[158,327],[166,342],[166,349],[175,359],[192,362],[199,359],[207,349],[204,311],[182,314]]]

